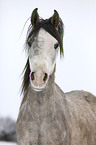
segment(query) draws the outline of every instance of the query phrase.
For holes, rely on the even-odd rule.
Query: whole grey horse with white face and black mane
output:
[[[16,123],[19,145],[96,145],[96,97],[80,90],[64,93],[55,83],[56,57],[64,56],[63,27],[56,10],[49,19],[33,10]]]

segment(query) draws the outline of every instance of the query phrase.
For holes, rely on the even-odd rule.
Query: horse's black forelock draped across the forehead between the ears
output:
[[[49,34],[51,34],[59,43],[60,45],[60,55],[63,56],[63,34],[64,34],[64,28],[63,28],[63,22],[61,18],[59,18],[59,26],[58,30],[54,28],[54,26],[51,24],[51,18],[49,19],[40,19],[39,23],[32,27],[32,25],[29,25],[28,31],[27,31],[27,38],[26,38],[26,46],[29,45],[31,47],[32,42],[34,41],[34,37],[40,30],[40,28],[45,29]],[[26,48],[30,48],[26,47]]]

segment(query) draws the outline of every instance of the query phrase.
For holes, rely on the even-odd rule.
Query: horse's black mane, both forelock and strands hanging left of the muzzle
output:
[[[51,17],[52,18],[52,17]],[[63,22],[61,18],[59,18],[59,26],[58,31],[54,28],[54,26],[51,24],[51,18],[49,19],[40,19],[39,23],[32,27],[32,24],[30,24],[27,32],[27,39],[26,39],[26,49],[30,49],[32,42],[34,41],[34,37],[40,30],[40,28],[45,29],[49,34],[51,34],[59,43],[60,45],[60,56],[64,55],[63,52]],[[22,83],[22,91],[24,95],[27,92],[28,86],[30,84],[30,66],[29,66],[29,58],[27,59],[27,63],[24,68],[24,78]]]

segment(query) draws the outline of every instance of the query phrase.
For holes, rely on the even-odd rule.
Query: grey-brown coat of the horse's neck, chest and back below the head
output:
[[[29,86],[17,120],[19,145],[96,145],[96,98],[84,91],[63,93],[54,83]]]

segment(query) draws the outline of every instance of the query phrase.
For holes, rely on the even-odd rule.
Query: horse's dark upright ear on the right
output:
[[[56,10],[54,10],[54,14],[51,18],[51,23],[52,25],[58,30],[58,26],[59,26],[59,14]]]

